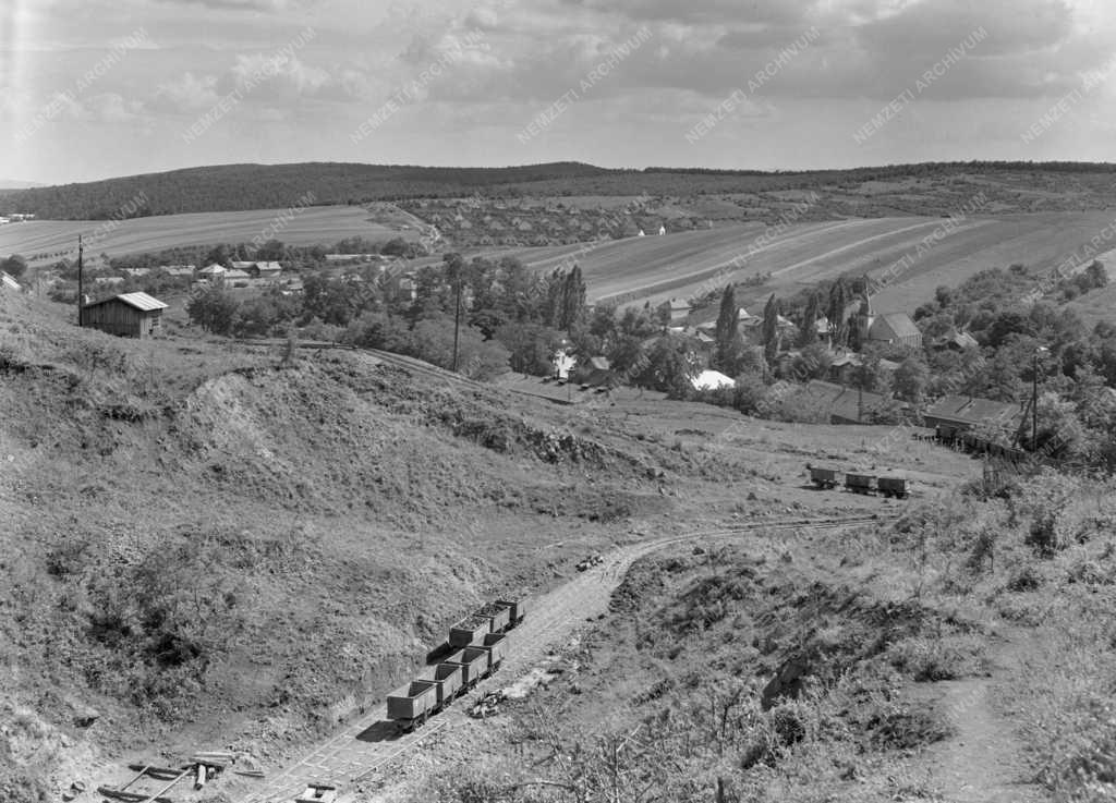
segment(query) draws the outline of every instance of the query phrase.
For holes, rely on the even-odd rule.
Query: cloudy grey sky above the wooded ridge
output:
[[[1112,0],[3,0],[0,180],[1116,161]]]

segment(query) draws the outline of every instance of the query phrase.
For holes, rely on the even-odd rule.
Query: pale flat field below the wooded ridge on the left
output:
[[[272,224],[278,229],[273,235]],[[52,262],[76,255],[78,234],[85,236],[86,253],[118,257],[179,245],[250,242],[260,234],[291,245],[327,245],[350,236],[414,240],[419,231],[376,222],[359,206],[309,206],[296,209],[294,214],[282,209],[206,212],[119,222],[32,221],[0,226],[0,254],[19,253],[31,262]]]

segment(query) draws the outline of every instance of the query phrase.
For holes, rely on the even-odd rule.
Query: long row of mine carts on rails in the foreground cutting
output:
[[[450,628],[450,652],[387,696],[387,718],[401,731],[432,715],[494,674],[508,654],[508,631],[523,621],[522,599],[497,600]]]

